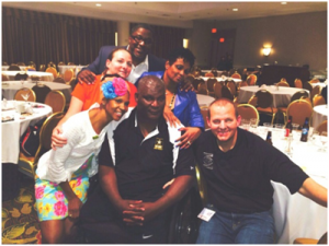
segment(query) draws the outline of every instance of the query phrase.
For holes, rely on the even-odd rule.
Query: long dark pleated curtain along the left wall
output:
[[[1,7],[1,61],[88,65],[115,32],[112,21]]]

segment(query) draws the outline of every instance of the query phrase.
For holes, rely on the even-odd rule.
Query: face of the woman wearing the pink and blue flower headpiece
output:
[[[128,110],[129,93],[127,92],[123,96],[117,96],[113,99],[109,99],[105,104],[106,113],[113,120],[117,121]]]

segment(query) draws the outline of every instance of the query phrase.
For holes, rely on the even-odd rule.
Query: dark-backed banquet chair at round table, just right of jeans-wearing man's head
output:
[[[257,110],[259,114],[265,114],[272,116],[272,125],[274,122],[277,108],[273,107],[273,95],[266,90],[259,90],[256,94],[257,96]]]

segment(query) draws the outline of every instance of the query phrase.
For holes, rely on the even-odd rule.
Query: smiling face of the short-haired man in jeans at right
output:
[[[230,103],[214,104],[209,110],[211,118],[207,119],[207,122],[213,134],[219,142],[234,143],[241,121],[241,117],[236,116],[234,105]]]

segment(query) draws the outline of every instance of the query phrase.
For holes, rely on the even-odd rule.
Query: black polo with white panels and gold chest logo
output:
[[[170,128],[162,117],[157,130],[144,138],[135,114],[136,109],[114,130],[115,156],[111,156],[105,138],[99,164],[114,166],[123,199],[155,201],[163,195],[163,185],[172,178],[194,176],[195,160],[191,148],[179,150],[174,147],[180,132]]]

